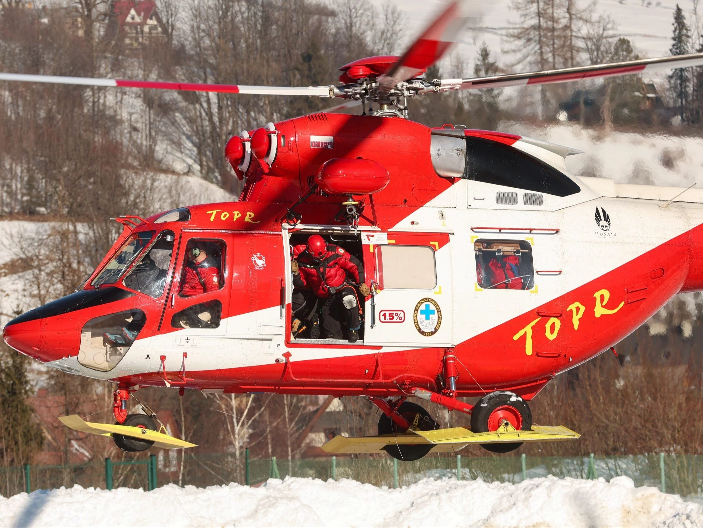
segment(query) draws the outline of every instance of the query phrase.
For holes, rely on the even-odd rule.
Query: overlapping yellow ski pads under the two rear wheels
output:
[[[501,444],[503,442],[538,442],[575,440],[581,435],[563,425],[533,425],[530,431],[517,431],[505,422],[498,431],[474,433],[465,427],[435,429],[434,431],[408,431],[404,434],[383,434],[347,438],[335,436],[322,446],[327,453],[378,453],[385,446],[434,444],[433,453],[459,451],[468,444]]]

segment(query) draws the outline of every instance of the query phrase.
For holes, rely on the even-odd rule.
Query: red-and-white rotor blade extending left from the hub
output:
[[[131,81],[122,79],[96,79],[91,77],[57,77],[55,75],[25,75],[0,73],[0,81],[44,82],[51,84],[79,84],[81,86],[147,88],[181,92],[220,92],[224,94],[252,95],[306,95],[334,97],[334,87],[307,86],[247,86],[245,84],[198,84],[193,82]]]

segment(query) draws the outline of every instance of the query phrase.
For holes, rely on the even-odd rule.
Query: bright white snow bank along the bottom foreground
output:
[[[271,479],[155,491],[72,489],[0,498],[0,526],[703,526],[703,507],[628,477],[520,484],[425,479],[402,489]]]

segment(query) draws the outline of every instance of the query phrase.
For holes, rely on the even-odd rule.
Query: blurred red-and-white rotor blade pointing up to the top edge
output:
[[[453,0],[430,24],[420,38],[379,78],[381,86],[391,89],[401,81],[411,79],[439,60],[455,42],[456,37],[472,15],[470,0]],[[473,13],[475,14],[475,13]]]

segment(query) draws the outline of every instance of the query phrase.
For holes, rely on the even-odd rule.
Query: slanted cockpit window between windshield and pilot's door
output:
[[[166,276],[174,249],[173,231],[162,231],[139,263],[124,278],[124,285],[142,294],[160,297],[166,285]]]

